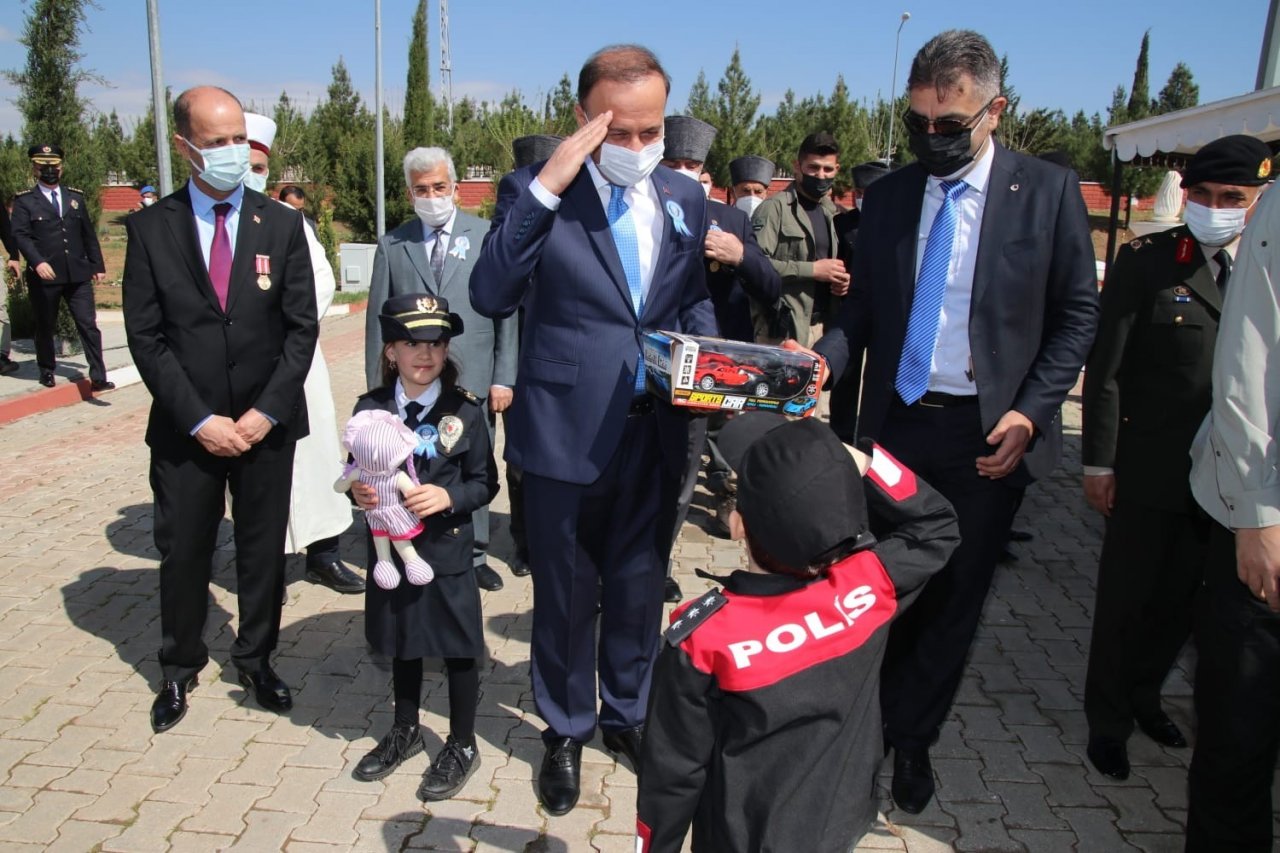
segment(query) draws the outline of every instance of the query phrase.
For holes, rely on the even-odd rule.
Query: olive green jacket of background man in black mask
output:
[[[836,234],[833,218],[840,209],[826,195],[818,202],[823,210],[823,219],[827,222],[827,245],[831,247],[831,257],[840,246]],[[769,256],[773,269],[782,277],[782,305],[790,311],[795,321],[796,341],[801,346],[813,343],[809,338],[809,323],[813,318],[814,301],[819,288],[828,287],[813,277],[813,264],[817,242],[814,240],[813,225],[809,214],[800,206],[800,196],[796,188],[788,187],[771,199],[765,199],[755,214],[751,216],[751,227],[755,229],[755,240],[760,248]],[[833,314],[837,307],[837,298],[829,302],[828,313]],[[756,341],[772,339],[769,337],[771,313],[768,306],[751,301],[751,324],[755,327]]]

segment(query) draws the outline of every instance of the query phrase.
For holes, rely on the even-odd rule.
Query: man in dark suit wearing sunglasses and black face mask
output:
[[[865,347],[859,434],[960,519],[960,547],[895,622],[884,658],[892,794],[916,813],[1019,496],[1059,461],[1059,410],[1093,341],[1097,283],[1075,174],[992,138],[1006,100],[987,40],[936,36],[908,87],[916,163],[868,188],[851,297],[815,348],[838,377]]]

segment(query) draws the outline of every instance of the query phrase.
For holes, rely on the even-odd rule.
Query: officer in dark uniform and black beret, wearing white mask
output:
[[[1192,439],[1210,409],[1222,295],[1244,222],[1271,173],[1249,136],[1202,147],[1183,175],[1185,225],[1123,247],[1102,289],[1084,375],[1084,494],[1106,516],[1084,685],[1088,756],[1129,775],[1134,722],[1187,745],[1160,688],[1190,633],[1208,521],[1190,493]]]

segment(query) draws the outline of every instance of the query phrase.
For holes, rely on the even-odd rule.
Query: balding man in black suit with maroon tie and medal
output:
[[[271,670],[284,593],[293,447],[319,324],[302,216],[242,184],[244,114],[197,87],[173,105],[188,184],[125,220],[124,328],[154,397],[147,423],[160,552],[160,667],[151,725],[187,712],[209,661],[202,633],[214,544],[230,488],[239,630],[232,662],[268,710],[288,711]]]

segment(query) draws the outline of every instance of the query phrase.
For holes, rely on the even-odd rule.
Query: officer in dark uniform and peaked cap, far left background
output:
[[[93,311],[93,282],[106,278],[93,219],[79,190],[63,187],[63,150],[33,145],[27,150],[36,186],[13,200],[13,238],[27,260],[27,292],[36,314],[36,364],[40,384],[54,387],[54,325],[58,301],[76,320],[93,391],[110,391],[102,364],[102,333]]]

